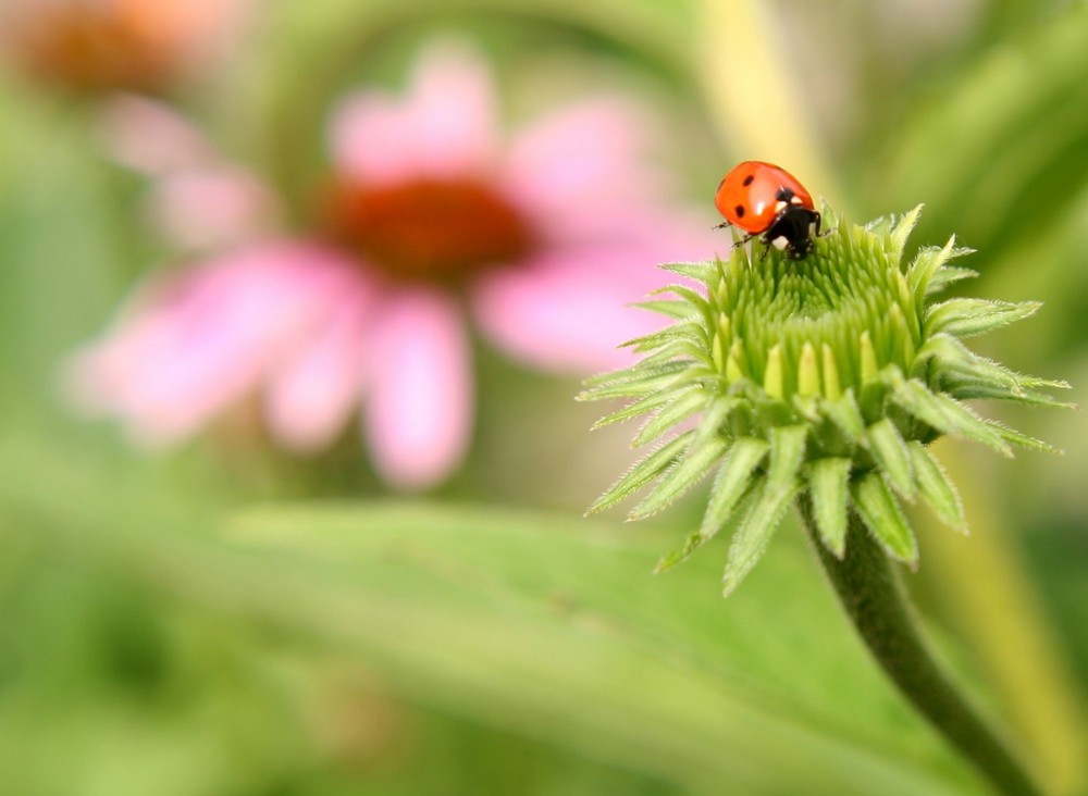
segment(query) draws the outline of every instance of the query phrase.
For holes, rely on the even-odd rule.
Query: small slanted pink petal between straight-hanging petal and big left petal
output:
[[[308,452],[347,424],[363,387],[368,313],[373,296],[348,294],[312,339],[272,376],[265,416],[272,435]]]

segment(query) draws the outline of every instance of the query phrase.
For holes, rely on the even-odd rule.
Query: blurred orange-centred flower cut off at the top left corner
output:
[[[78,90],[161,91],[223,42],[240,0],[9,0],[9,54]]]

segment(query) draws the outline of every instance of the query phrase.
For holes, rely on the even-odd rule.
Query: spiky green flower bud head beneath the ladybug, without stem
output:
[[[843,555],[855,513],[890,557],[913,565],[918,547],[903,501],[920,497],[945,523],[964,525],[929,443],[947,434],[1003,455],[1017,445],[1049,449],[963,402],[1065,406],[1040,391],[1064,383],[1014,373],[963,343],[1039,304],[936,300],[974,272],[951,264],[969,253],[954,239],[904,264],[920,207],[864,227],[824,210],[832,231],[803,260],[762,247],[753,259],[737,246],[725,261],[665,265],[701,288],[673,285],[642,304],[672,325],[628,343],[642,360],[591,380],[581,396],[633,398],[598,425],[648,415],[634,444],[654,446],[591,510],[648,486],[630,519],[650,517],[717,473],[702,526],[658,570],[735,522],[731,592],[799,496],[811,500],[833,555]]]

